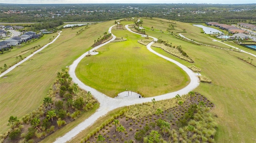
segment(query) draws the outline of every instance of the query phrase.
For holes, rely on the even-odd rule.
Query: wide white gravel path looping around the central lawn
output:
[[[113,25],[114,26],[114,25]],[[109,33],[111,33],[111,26],[108,30]],[[128,28],[128,25],[125,26],[126,29],[128,29],[129,31],[131,31]],[[132,33],[135,33],[133,31],[131,31]],[[138,34],[138,33],[136,33]],[[140,34],[141,35],[141,34]],[[114,36],[112,34],[113,38],[110,41],[113,41],[116,36]],[[157,41],[157,39],[155,37],[152,37],[155,41]],[[99,45],[97,47],[94,47],[91,51],[93,51],[94,49],[98,49],[100,47],[102,47],[103,45],[106,45],[108,43],[110,43],[110,41]],[[70,139],[72,139],[73,137],[75,137],[78,133],[80,133],[80,131],[86,129],[87,127],[89,127],[90,125],[92,125],[96,119],[100,118],[101,116],[104,116],[105,114],[107,114],[108,112],[110,112],[111,110],[114,110],[116,108],[122,107],[122,106],[129,106],[129,105],[134,105],[134,104],[140,104],[143,102],[151,102],[151,100],[153,98],[155,98],[156,100],[164,100],[164,99],[170,99],[175,97],[177,94],[180,95],[184,95],[187,94],[189,91],[193,90],[194,88],[196,88],[199,85],[199,79],[197,78],[197,73],[192,72],[190,69],[188,69],[186,66],[178,63],[177,61],[174,61],[168,57],[165,57],[163,55],[160,55],[159,53],[156,53],[155,51],[153,51],[150,46],[152,45],[153,42],[149,43],[147,45],[147,49],[149,51],[151,51],[152,53],[168,60],[171,61],[173,63],[175,63],[176,65],[178,65],[179,67],[181,67],[190,77],[190,83],[182,88],[181,90],[178,90],[176,92],[171,92],[168,94],[164,94],[164,95],[160,95],[160,96],[155,96],[155,97],[151,97],[151,98],[110,98],[108,96],[106,96],[105,94],[97,91],[94,88],[91,88],[90,86],[86,86],[84,83],[82,83],[75,74],[75,69],[76,66],[78,65],[78,63],[88,54],[88,52],[84,53],[82,56],[80,56],[76,61],[74,61],[74,63],[72,63],[72,65],[70,65],[70,70],[69,70],[69,74],[72,77],[73,82],[77,83],[78,86],[80,86],[80,88],[83,88],[84,90],[90,91],[91,94],[100,102],[100,108],[98,108],[98,110],[89,118],[87,118],[86,120],[84,120],[82,123],[80,123],[79,125],[77,125],[76,127],[74,127],[74,129],[72,129],[71,131],[69,131],[68,133],[66,133],[64,136],[56,139],[56,141],[54,143],[65,143],[67,141],[69,141]]]

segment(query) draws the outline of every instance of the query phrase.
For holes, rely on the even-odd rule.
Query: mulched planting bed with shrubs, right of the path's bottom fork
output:
[[[178,101],[183,104],[178,105]],[[174,107],[167,110],[158,108],[161,102],[156,104],[155,108],[151,103],[144,104],[141,108],[135,105],[138,108],[135,114],[146,108],[154,112],[146,116],[127,116],[127,112],[133,112],[135,106],[128,107],[128,111],[100,125],[82,139],[81,143],[215,142],[216,123],[214,116],[209,113],[214,104],[205,96],[195,93],[191,101],[190,96],[177,96],[171,99],[172,103],[176,103]]]

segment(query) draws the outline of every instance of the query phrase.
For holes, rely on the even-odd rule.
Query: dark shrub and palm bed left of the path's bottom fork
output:
[[[5,143],[10,142],[38,142],[57,131],[67,123],[74,121],[82,112],[87,112],[97,103],[90,92],[82,90],[72,83],[68,71],[57,73],[48,96],[43,104],[30,114],[22,117],[10,116],[10,129],[0,135]]]

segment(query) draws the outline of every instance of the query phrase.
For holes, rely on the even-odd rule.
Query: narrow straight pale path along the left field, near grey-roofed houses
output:
[[[61,32],[62,32],[62,31],[60,31],[60,32],[58,33],[58,36],[56,36],[55,39],[53,39],[50,43],[44,45],[44,47],[40,48],[39,50],[35,51],[35,52],[32,53],[31,55],[29,55],[28,57],[26,57],[25,59],[23,59],[22,61],[20,61],[19,63],[16,63],[15,65],[13,65],[12,67],[10,67],[10,68],[7,69],[6,71],[2,72],[2,73],[0,74],[0,77],[4,76],[4,75],[7,74],[8,72],[12,71],[12,70],[13,70],[15,67],[17,67],[18,65],[20,65],[20,64],[24,63],[25,61],[27,61],[29,58],[31,58],[32,56],[34,56],[36,53],[42,51],[42,50],[43,50],[45,47],[47,47],[48,45],[54,43],[54,42],[56,41],[56,39],[58,39],[58,37],[60,37],[60,33],[61,33]]]

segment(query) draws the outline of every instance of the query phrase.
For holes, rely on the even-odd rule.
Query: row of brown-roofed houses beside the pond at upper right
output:
[[[229,33],[248,33],[243,29],[239,29],[238,27],[227,25],[227,24],[219,24],[218,22],[206,22],[206,25],[212,25],[215,27],[219,27],[220,29],[227,30]]]

